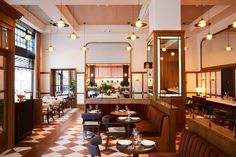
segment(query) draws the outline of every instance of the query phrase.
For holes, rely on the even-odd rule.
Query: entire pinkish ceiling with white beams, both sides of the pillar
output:
[[[56,22],[61,17],[74,30],[78,30],[79,25],[82,25],[83,22],[92,26],[124,26],[127,22],[133,22],[138,17],[144,19],[146,23],[150,20],[148,17],[148,5],[151,0],[140,0],[140,5],[138,5],[138,0],[63,0],[62,7],[60,0],[5,1],[14,5],[19,11],[22,12],[23,10],[25,17],[27,16],[26,12],[29,11],[30,15],[35,17],[34,22],[36,20],[41,32],[47,29],[51,20]],[[201,3],[203,4],[203,9],[201,9]],[[204,18],[207,19],[206,12],[208,9],[214,8],[217,5],[227,6],[228,4],[236,5],[236,0],[181,0],[181,23],[182,25],[192,24],[196,22],[196,19],[202,13],[205,13]],[[221,10],[223,15],[226,14],[226,11],[223,12],[225,8]],[[127,30],[127,27],[125,29]],[[145,31],[148,31],[148,29]]]

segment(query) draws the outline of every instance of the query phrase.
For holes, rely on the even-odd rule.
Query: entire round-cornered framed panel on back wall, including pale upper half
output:
[[[127,42],[91,42],[87,45],[86,98],[130,98],[131,45]]]

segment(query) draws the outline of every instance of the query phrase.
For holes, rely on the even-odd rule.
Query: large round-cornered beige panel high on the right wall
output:
[[[229,45],[231,49],[226,50]],[[212,40],[204,39],[201,44],[202,68],[232,65],[236,63],[236,29],[226,28],[216,34]]]

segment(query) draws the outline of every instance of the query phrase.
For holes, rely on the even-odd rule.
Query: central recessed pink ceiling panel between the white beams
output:
[[[138,18],[138,5],[69,5],[67,6],[78,24],[126,25]]]

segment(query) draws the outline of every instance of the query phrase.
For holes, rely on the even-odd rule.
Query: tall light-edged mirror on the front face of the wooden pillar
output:
[[[157,37],[157,94],[181,96],[181,37]]]

